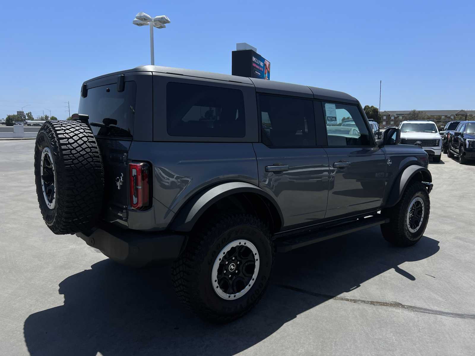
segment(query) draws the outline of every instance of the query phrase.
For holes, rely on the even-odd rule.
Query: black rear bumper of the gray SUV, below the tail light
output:
[[[171,263],[186,243],[186,235],[172,232],[143,232],[104,224],[90,234],[77,233],[89,246],[122,264],[142,267]]]

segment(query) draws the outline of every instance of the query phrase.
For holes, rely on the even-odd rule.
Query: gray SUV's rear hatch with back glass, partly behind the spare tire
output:
[[[102,218],[127,226],[128,163],[133,139],[136,84],[87,88],[79,101],[79,114],[89,116],[89,124],[101,150],[104,164],[104,204]]]

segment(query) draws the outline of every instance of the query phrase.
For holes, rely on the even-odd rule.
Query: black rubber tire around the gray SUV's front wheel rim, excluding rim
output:
[[[424,217],[418,230],[414,233],[409,231],[407,226],[407,215],[409,204],[415,197],[420,197],[424,202]],[[409,183],[404,191],[404,195],[393,207],[384,209],[382,214],[390,218],[390,222],[381,225],[381,233],[386,241],[396,246],[412,246],[416,244],[424,231],[429,220],[430,200],[426,186],[418,181]]]

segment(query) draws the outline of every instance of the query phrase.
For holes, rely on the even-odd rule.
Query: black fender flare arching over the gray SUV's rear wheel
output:
[[[284,217],[276,200],[263,189],[246,182],[226,182],[208,187],[191,197],[175,215],[170,229],[174,231],[189,232],[198,221],[199,217],[218,200],[236,193],[255,193],[267,198],[274,205],[280,221],[283,224]],[[281,224],[281,225],[282,225]],[[282,226],[281,226],[282,227]]]

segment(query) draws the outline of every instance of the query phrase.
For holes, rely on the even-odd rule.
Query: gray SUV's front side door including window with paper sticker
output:
[[[377,209],[384,194],[386,156],[357,105],[323,102],[330,189],[325,218]],[[345,128],[357,131],[345,131]]]

